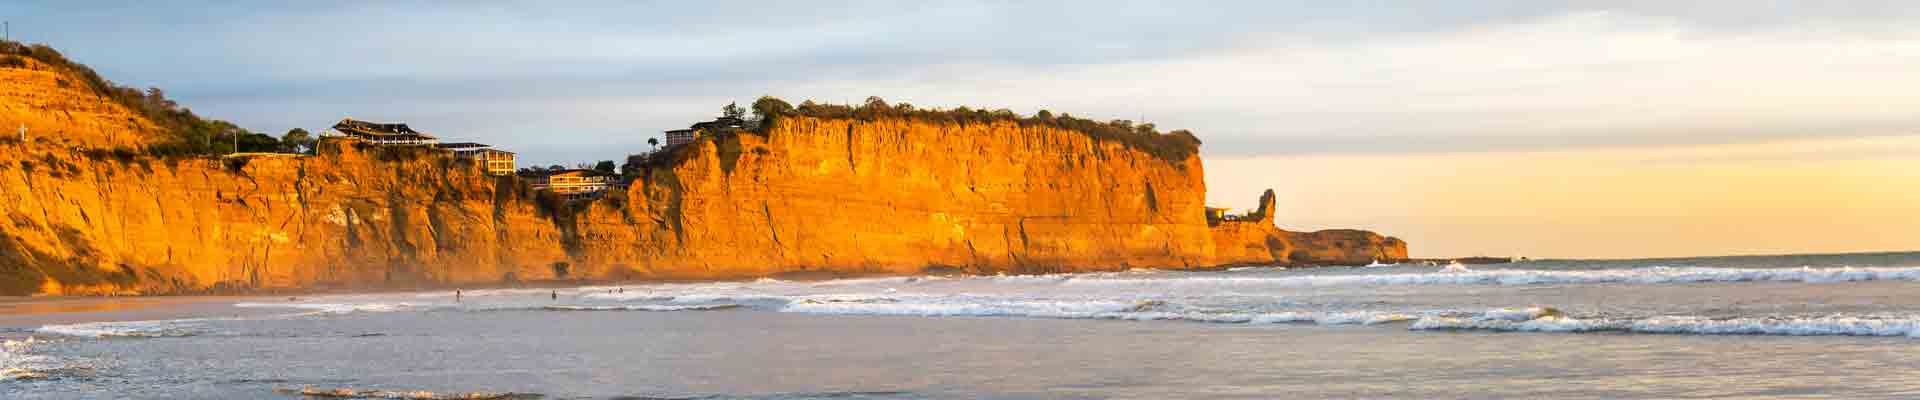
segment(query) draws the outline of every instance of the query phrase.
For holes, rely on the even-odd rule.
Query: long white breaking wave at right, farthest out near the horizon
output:
[[[1085,287],[1386,287],[1386,285],[1668,285],[1668,283],[1855,283],[1855,281],[1920,281],[1920,267],[1797,267],[1797,269],[1738,269],[1738,267],[1636,267],[1636,269],[1488,269],[1448,267],[1440,273],[1371,273],[1371,275],[1286,275],[1286,277],[1073,277],[1066,285]]]

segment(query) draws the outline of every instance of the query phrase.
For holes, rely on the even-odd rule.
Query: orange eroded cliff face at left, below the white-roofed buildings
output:
[[[353,146],[246,162],[0,150],[0,294],[538,279],[564,260],[553,219],[516,185],[449,158],[384,162]]]

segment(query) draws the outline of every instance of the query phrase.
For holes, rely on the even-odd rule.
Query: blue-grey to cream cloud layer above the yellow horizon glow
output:
[[[25,4],[15,31],[257,131],[340,115],[637,150],[758,94],[1048,108],[1210,156],[1910,133],[1907,2]]]

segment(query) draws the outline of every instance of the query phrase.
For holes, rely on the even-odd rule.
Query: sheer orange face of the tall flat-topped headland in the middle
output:
[[[572,217],[645,277],[1048,273],[1212,263],[1198,158],[1018,123],[787,117],[699,140]]]

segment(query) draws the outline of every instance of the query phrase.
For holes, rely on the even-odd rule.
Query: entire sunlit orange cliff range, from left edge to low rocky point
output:
[[[127,152],[156,123],[44,87],[61,77],[42,73],[0,67],[0,125],[38,127],[27,142],[0,138],[0,294],[1405,258],[1373,233],[1281,231],[1271,190],[1256,215],[1210,221],[1198,156],[1048,125],[793,115],[705,137],[626,188],[564,202],[426,148]]]

